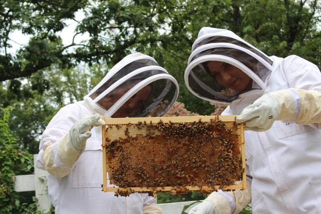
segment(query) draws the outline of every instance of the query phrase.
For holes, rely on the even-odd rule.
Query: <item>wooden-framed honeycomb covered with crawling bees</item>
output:
[[[103,191],[155,196],[246,188],[244,129],[235,116],[104,120]],[[107,187],[107,176],[117,187]]]

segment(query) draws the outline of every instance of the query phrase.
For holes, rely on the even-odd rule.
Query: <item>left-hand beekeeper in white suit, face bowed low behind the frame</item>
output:
[[[162,213],[147,193],[116,197],[102,191],[101,117],[162,116],[178,93],[173,76],[153,58],[135,53],[82,101],[61,108],[41,136],[37,157],[37,167],[50,173],[48,193],[56,213]]]

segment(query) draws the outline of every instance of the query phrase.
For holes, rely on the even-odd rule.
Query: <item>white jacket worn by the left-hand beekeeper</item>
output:
[[[59,110],[42,135],[42,149],[37,157],[37,167],[43,166],[43,152],[47,145],[55,143],[67,134],[77,118],[94,112],[84,106],[86,101],[67,105]],[[86,104],[86,106],[90,106]],[[113,192],[102,191],[102,147],[101,127],[91,130],[86,148],[67,176],[48,176],[48,193],[56,213],[143,213],[143,206],[156,204],[148,194],[134,193],[130,196],[114,196]],[[68,168],[57,155],[57,146],[51,154],[57,167]]]

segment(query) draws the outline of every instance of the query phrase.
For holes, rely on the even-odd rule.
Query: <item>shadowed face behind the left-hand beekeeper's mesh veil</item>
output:
[[[109,99],[101,99],[98,104],[105,109],[109,109],[115,102],[117,102],[128,90],[118,90]],[[151,93],[151,86],[147,85],[140,89],[136,94],[129,98],[111,117],[120,118],[127,117],[135,111],[139,110]]]

